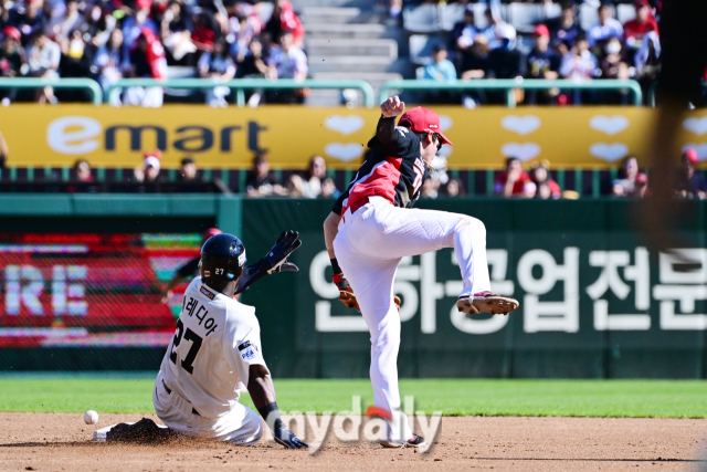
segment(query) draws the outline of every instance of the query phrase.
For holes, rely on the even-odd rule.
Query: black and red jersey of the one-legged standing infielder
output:
[[[381,117],[368,147],[371,153],[334,204],[336,214],[344,214],[348,208],[356,211],[369,197],[383,197],[400,208],[411,208],[420,197],[429,172],[414,133],[395,126],[394,118]]]

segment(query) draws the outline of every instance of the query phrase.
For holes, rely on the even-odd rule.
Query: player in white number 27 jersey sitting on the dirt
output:
[[[286,260],[300,244],[296,232],[283,232],[267,255],[247,268],[245,248],[236,237],[217,234],[203,244],[201,275],[184,292],[152,392],[157,416],[170,430],[254,444],[263,436],[263,422],[239,402],[246,386],[275,441],[291,449],[307,447],[279,417],[255,308],[233,298],[265,274],[296,271]]]

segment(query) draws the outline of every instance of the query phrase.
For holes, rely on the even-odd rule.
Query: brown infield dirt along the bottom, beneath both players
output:
[[[139,418],[105,415],[99,426]],[[336,438],[316,455],[271,443],[126,445],[93,442],[93,429],[81,415],[0,413],[0,471],[707,471],[707,462],[699,460],[707,420],[444,418],[426,454],[368,442],[344,444]]]

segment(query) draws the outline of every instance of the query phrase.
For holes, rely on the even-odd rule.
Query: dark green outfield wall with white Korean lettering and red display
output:
[[[650,249],[632,229],[641,204],[420,202],[486,223],[492,289],[521,307],[508,317],[466,318],[454,308],[461,276],[452,250],[404,260],[395,282],[403,300],[400,375],[705,377],[707,208],[675,204],[686,214],[676,256]],[[251,262],[284,229],[298,230],[304,241],[292,258],[298,274],[266,277],[243,296],[257,308],[273,374],[367,377],[366,325],[336,301],[328,282],[321,222],[330,206],[210,196],[0,196],[0,369],[157,369],[181,305],[179,293],[162,305],[158,287],[178,262],[198,253],[198,234],[218,224],[242,237]]]

